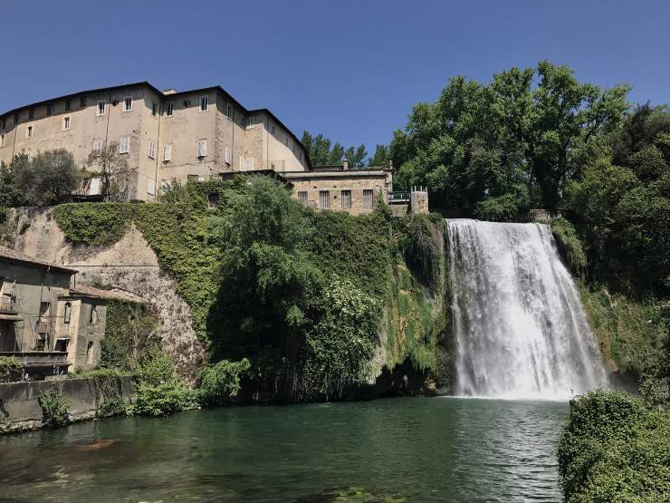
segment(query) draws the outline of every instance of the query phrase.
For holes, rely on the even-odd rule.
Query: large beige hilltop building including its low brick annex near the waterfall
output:
[[[419,208],[409,204],[409,193],[392,194],[391,169],[349,169],[346,160],[312,167],[301,141],[271,111],[247,110],[218,86],[176,92],[137,82],[75,92],[0,115],[0,161],[5,163],[20,153],[62,148],[85,165],[91,151],[111,144],[128,160],[125,199],[153,200],[172,179],[258,172],[278,176],[293,198],[312,208],[359,215],[372,211],[378,198],[393,204],[397,214]],[[87,179],[81,191],[100,195],[101,180]]]

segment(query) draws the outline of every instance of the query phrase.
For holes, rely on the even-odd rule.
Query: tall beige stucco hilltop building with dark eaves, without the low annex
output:
[[[34,156],[62,148],[84,165],[91,150],[112,142],[132,170],[129,199],[152,200],[171,179],[310,169],[300,140],[271,111],[247,110],[220,87],[160,92],[139,82],[0,115],[0,161],[5,163],[22,152]]]

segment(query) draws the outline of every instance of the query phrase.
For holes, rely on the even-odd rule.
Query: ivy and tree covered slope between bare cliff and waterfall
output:
[[[340,399],[401,363],[417,388],[445,373],[441,219],[391,218],[383,204],[316,212],[262,177],[164,199],[60,205],[54,218],[76,246],[109,246],[134,224],[190,306],[209,364],[249,361],[240,399]]]

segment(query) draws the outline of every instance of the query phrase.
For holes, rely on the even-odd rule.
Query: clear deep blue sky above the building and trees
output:
[[[2,0],[0,111],[149,81],[220,84],[298,136],[374,150],[448,78],[542,59],[669,102],[668,1]]]

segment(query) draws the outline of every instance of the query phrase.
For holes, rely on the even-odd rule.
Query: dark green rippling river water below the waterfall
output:
[[[0,438],[0,501],[557,501],[568,412],[403,398],[81,422]]]

